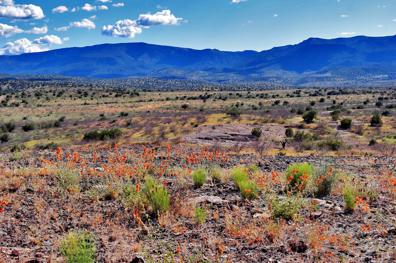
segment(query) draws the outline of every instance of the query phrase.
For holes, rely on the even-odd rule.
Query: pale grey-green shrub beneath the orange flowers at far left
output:
[[[55,170],[55,178],[61,194],[74,194],[80,191],[80,175],[75,170],[58,168]]]

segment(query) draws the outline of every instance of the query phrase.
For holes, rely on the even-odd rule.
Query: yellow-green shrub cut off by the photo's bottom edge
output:
[[[66,263],[93,263],[95,261],[95,239],[86,230],[69,232],[60,242],[61,253]]]

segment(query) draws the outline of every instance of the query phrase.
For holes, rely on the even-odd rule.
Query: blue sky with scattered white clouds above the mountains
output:
[[[0,0],[0,55],[145,42],[223,51],[396,34],[396,0]]]

